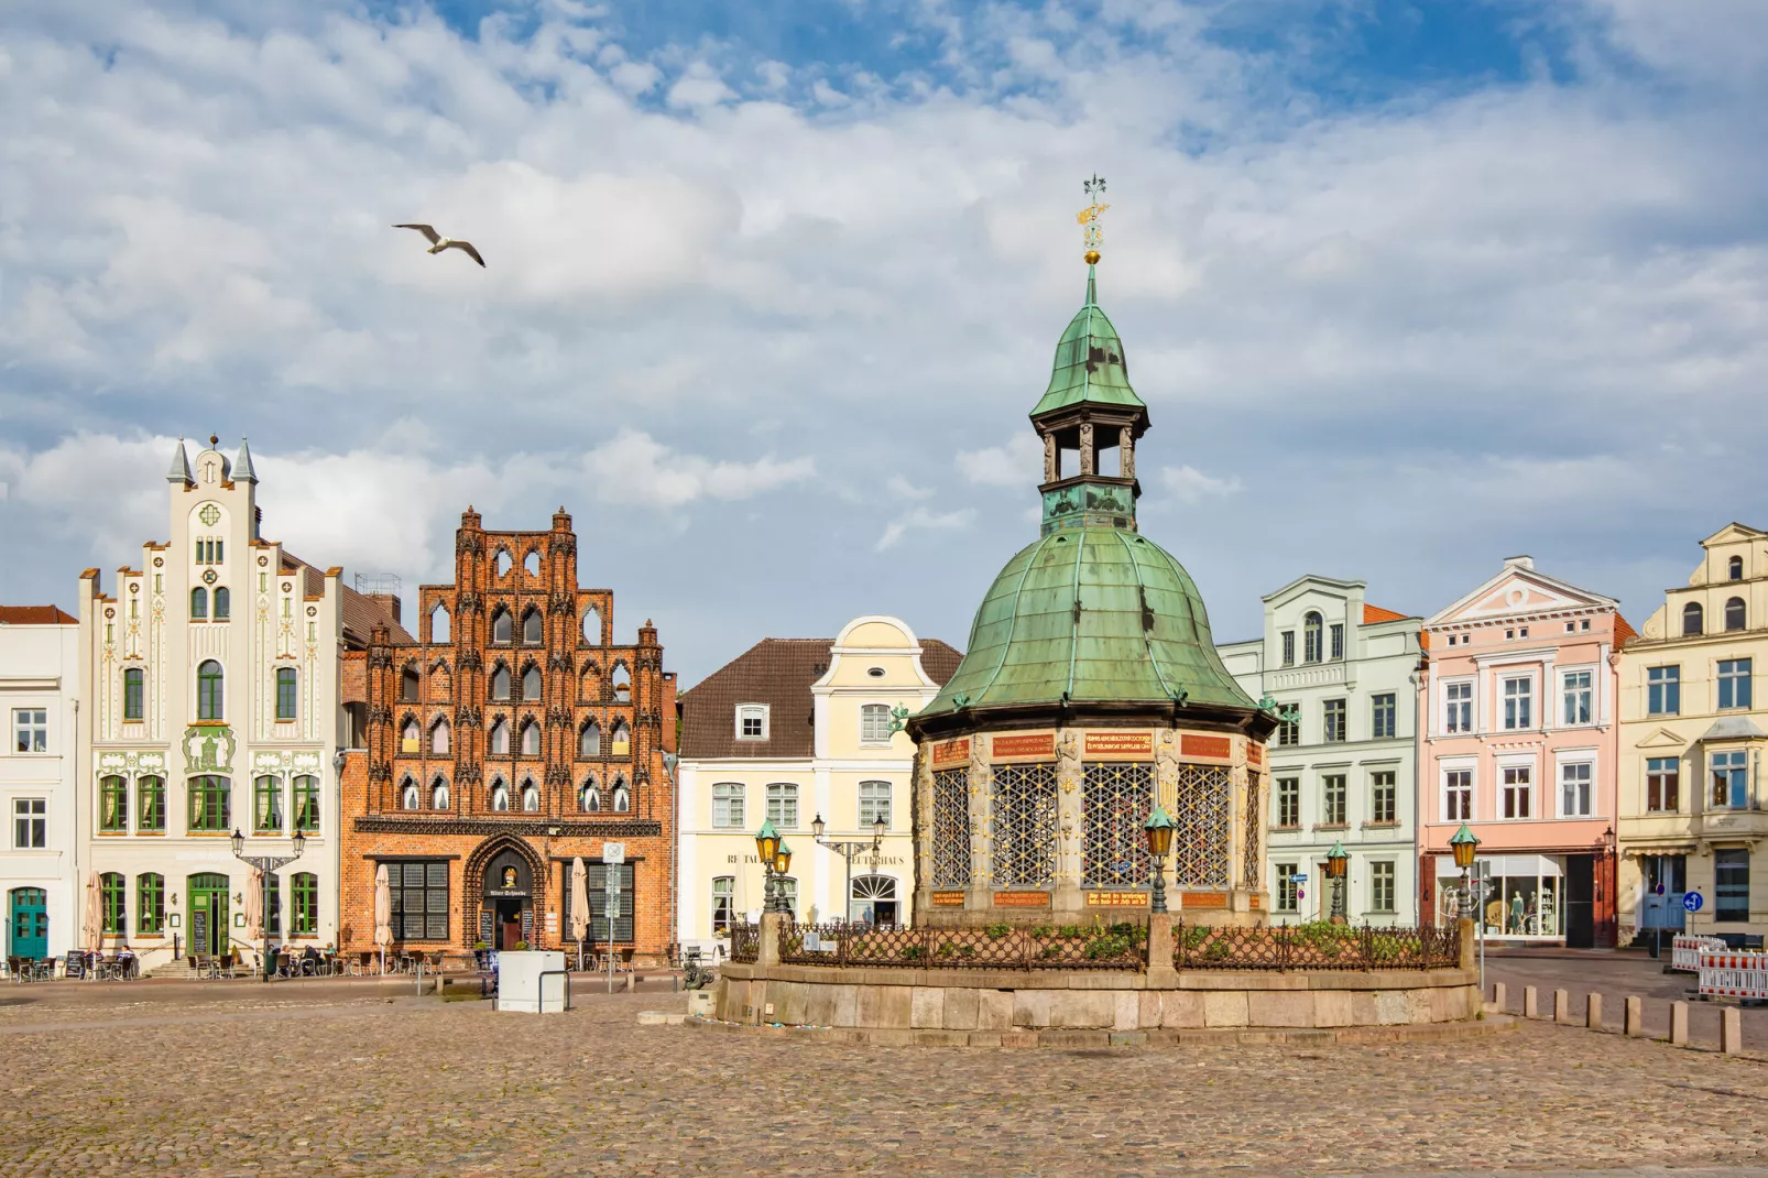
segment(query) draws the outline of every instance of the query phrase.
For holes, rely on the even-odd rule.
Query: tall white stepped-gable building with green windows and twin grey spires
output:
[[[101,893],[106,952],[127,943],[145,968],[175,946],[249,953],[251,868],[230,837],[288,854],[299,830],[272,936],[336,943],[339,653],[366,639],[347,616],[380,607],[260,536],[244,442],[228,462],[210,439],[194,465],[179,442],[166,481],[170,539],[111,594],[81,577],[81,888]]]

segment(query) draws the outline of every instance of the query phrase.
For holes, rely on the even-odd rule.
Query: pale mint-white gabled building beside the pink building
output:
[[[1264,637],[1216,647],[1248,695],[1296,709],[1269,745],[1264,858],[1278,922],[1331,914],[1326,854],[1337,842],[1349,853],[1351,923],[1418,922],[1414,677],[1423,619],[1368,605],[1367,587],[1301,577],[1264,598]]]

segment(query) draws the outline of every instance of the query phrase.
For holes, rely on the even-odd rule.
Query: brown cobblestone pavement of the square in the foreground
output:
[[[0,991],[0,1174],[1349,1174],[1768,1166],[1768,1063],[1453,1044],[956,1051],[361,983]],[[1729,1171],[1740,1174],[1743,1171]]]

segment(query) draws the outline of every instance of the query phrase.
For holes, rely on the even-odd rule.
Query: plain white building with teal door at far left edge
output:
[[[5,955],[76,948],[80,626],[53,605],[0,605],[0,897]]]

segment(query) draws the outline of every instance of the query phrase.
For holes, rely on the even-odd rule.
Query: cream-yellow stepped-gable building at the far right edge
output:
[[[1623,937],[1768,932],[1768,532],[1731,524],[1701,548],[1621,660]]]

